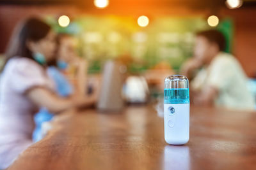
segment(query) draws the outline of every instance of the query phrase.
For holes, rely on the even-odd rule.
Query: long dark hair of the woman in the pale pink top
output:
[[[32,52],[26,43],[40,41],[45,38],[51,27],[38,18],[28,18],[15,28],[5,53],[5,64],[13,57],[27,57],[33,59]],[[4,64],[4,65],[5,65]]]

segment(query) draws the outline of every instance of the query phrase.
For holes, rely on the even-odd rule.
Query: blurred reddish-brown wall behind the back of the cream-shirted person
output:
[[[241,62],[246,74],[256,78],[256,10],[223,10],[222,13],[234,19],[234,55]]]

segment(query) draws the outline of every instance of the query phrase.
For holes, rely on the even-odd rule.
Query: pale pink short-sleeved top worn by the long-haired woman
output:
[[[35,86],[54,90],[54,83],[44,67],[24,57],[7,62],[0,79],[0,169],[8,166],[31,141],[33,115],[38,107],[29,101],[25,93]],[[22,141],[26,145],[22,145]],[[13,152],[6,151],[17,146],[20,148]]]

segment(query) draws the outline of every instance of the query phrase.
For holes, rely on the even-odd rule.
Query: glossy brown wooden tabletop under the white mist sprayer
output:
[[[256,169],[256,113],[191,108],[190,140],[164,141],[152,106],[65,113],[10,169]]]

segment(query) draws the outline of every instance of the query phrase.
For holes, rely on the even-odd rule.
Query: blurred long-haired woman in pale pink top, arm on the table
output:
[[[46,72],[55,50],[55,33],[37,18],[22,22],[12,36],[0,82],[0,169],[33,143],[33,115],[38,108],[58,114],[95,103],[94,98],[56,95]]]

